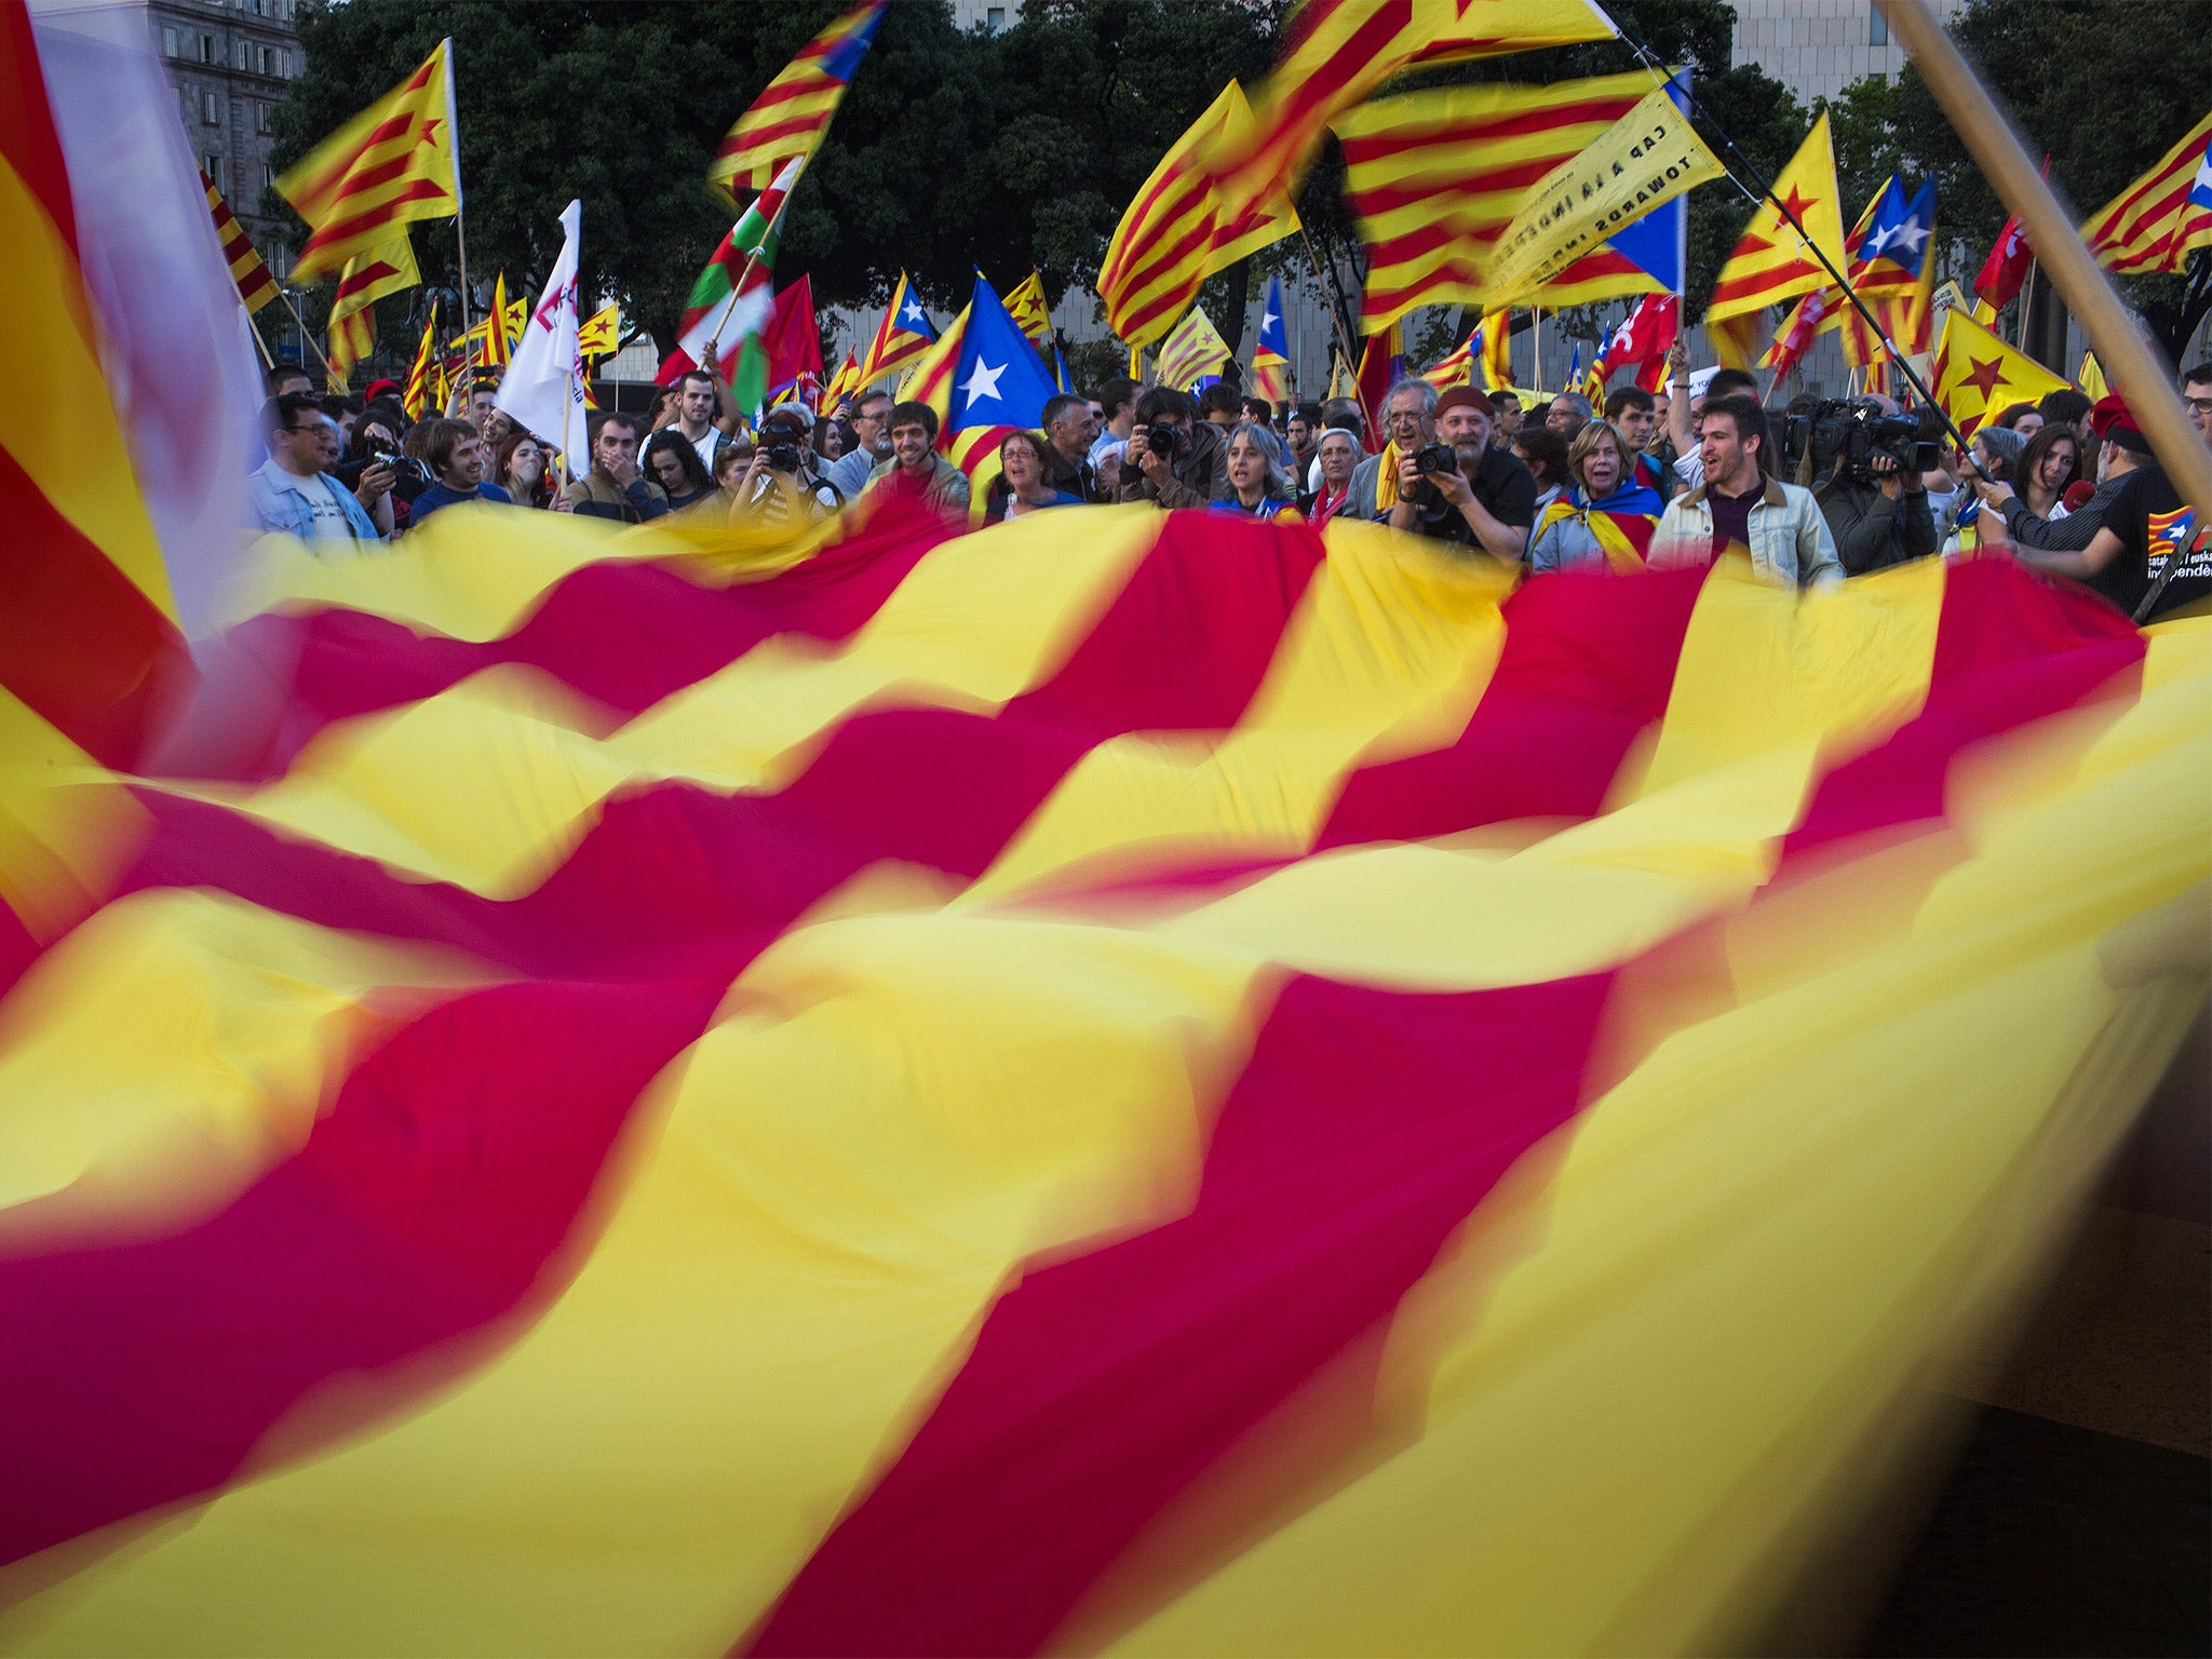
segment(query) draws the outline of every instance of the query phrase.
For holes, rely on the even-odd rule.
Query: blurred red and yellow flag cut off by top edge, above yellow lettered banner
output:
[[[1323,133],[1398,71],[1617,33],[1588,0],[1305,0],[1285,22],[1250,126],[1214,137],[1208,170],[1228,204],[1296,197]]]

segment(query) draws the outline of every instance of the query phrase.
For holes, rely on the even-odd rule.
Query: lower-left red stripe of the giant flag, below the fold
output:
[[[717,1000],[462,995],[369,1055],[299,1157],[199,1225],[0,1259],[15,1332],[0,1356],[0,1559],[215,1491],[316,1385],[374,1385],[549,1298],[542,1274],[630,1106]],[[394,1371],[387,1405],[440,1380]]]

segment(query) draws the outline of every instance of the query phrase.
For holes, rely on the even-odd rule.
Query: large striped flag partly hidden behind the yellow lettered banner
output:
[[[1360,327],[1378,330],[1420,305],[1482,305],[1491,250],[1531,186],[1650,91],[1652,77],[1635,71],[1553,86],[1449,86],[1343,113],[1345,206],[1367,246]]]

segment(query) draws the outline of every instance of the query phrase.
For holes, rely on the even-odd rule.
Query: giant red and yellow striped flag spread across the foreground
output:
[[[80,763],[11,1635],[1745,1646],[2201,1002],[2212,624],[900,509],[294,555]]]

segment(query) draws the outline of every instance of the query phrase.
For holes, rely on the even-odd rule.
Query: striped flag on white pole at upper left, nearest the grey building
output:
[[[440,40],[414,75],[276,179],[312,232],[292,279],[327,276],[403,223],[460,212],[453,146],[453,42]]]

